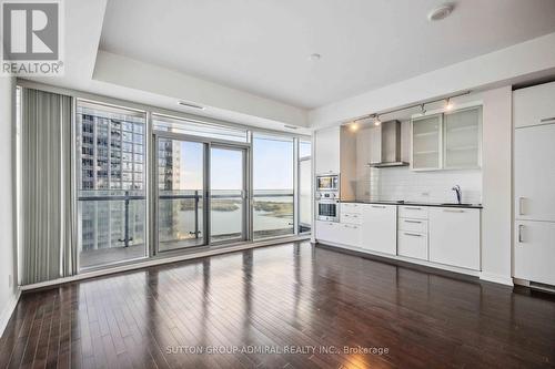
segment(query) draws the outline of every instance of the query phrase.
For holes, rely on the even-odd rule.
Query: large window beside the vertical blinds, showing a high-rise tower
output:
[[[143,112],[78,101],[81,269],[147,256],[144,124]]]

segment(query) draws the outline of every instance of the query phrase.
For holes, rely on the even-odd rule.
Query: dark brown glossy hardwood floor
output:
[[[2,368],[554,365],[554,299],[309,243],[28,293],[0,341]]]

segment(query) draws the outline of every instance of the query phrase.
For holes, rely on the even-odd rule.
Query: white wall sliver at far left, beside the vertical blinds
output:
[[[13,78],[0,78],[0,334],[17,304],[17,262],[13,222]]]

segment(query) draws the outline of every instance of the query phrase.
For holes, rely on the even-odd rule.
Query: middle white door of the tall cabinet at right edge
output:
[[[517,129],[514,140],[515,218],[555,222],[555,124]]]

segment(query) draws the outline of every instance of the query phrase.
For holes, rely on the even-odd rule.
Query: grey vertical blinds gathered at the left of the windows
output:
[[[22,284],[73,275],[72,100],[22,89]]]

